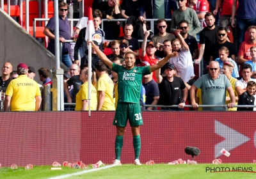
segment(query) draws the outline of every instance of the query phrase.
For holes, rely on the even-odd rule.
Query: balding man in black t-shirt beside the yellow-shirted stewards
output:
[[[83,82],[79,79],[80,78],[80,67],[76,64],[72,64],[69,68],[70,72],[70,79],[64,84],[64,90],[67,95],[67,102],[68,103],[75,103],[76,102],[76,94],[78,93],[79,89],[81,88],[81,84]],[[73,95],[70,97],[68,86],[73,86]]]

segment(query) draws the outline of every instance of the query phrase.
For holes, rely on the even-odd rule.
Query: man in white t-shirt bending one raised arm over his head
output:
[[[190,86],[195,82],[194,66],[188,44],[179,32],[176,33],[175,40],[172,41],[172,50],[178,52],[178,56],[170,58],[169,63],[173,64],[177,70],[177,75]],[[189,87],[188,87],[189,89]]]

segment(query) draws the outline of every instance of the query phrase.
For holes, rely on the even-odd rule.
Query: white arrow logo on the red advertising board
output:
[[[237,146],[250,141],[249,137],[244,136],[240,132],[237,132],[233,128],[230,128],[217,120],[215,120],[215,133],[225,138],[224,141],[215,145],[215,157],[217,157],[222,148],[230,151],[237,148]],[[220,153],[220,155],[222,154]]]

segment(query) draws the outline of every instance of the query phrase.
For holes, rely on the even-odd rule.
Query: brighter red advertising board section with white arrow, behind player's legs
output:
[[[191,159],[186,146],[196,146],[201,153],[198,163],[211,163],[222,148],[230,157],[221,156],[223,163],[253,162],[256,159],[256,122],[253,112],[145,112],[141,127],[141,162],[154,160],[167,163]],[[115,160],[114,113],[95,112],[91,118],[81,113],[81,160],[96,163]],[[129,126],[129,124],[128,124]],[[254,136],[255,135],[255,136]],[[253,143],[254,140],[254,143]],[[131,128],[127,127],[121,155],[122,163],[132,163]]]

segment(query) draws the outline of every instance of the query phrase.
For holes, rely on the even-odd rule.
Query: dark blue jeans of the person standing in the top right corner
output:
[[[256,26],[256,19],[239,19],[236,18],[236,29],[237,29],[237,52],[242,42],[244,42],[244,34],[249,26]]]

